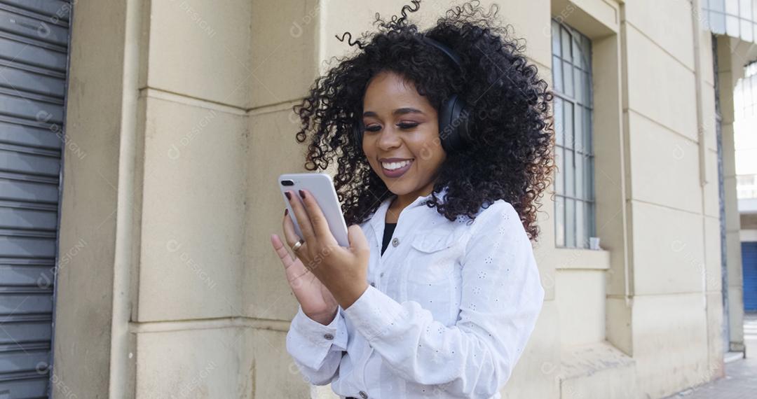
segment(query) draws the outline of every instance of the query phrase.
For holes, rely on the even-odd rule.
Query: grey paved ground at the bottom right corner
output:
[[[744,317],[746,359],[725,364],[725,377],[699,385],[666,399],[755,399],[757,398],[757,313]]]

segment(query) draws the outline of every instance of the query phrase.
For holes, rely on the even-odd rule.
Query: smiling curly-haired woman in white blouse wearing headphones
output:
[[[271,236],[300,302],[286,346],[340,397],[496,398],[544,300],[531,240],[554,168],[552,94],[496,6],[466,3],[426,32],[407,22],[418,8],[377,14],[379,32],[350,39],[360,51],[295,107],[298,141],[314,131],[306,168],[337,162],[350,247],[307,190],[288,192],[295,258]],[[440,128],[453,94],[469,105]]]

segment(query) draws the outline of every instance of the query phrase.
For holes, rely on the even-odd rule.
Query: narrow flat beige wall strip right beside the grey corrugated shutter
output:
[[[56,275],[53,391],[106,397],[111,377],[126,5],[77,7],[73,20],[60,252],[86,243]],[[115,22],[118,21],[118,22]],[[86,45],[84,45],[86,39]]]

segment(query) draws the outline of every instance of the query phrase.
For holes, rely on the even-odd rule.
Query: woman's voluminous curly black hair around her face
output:
[[[337,36],[342,42],[347,36],[347,43],[359,48],[357,54],[332,57],[338,65],[319,76],[309,95],[293,107],[302,125],[297,141],[308,140],[307,131],[313,131],[305,169],[326,169],[336,160],[334,184],[347,224],[363,223],[392,195],[369,165],[362,143],[352,135],[362,117],[369,80],[391,71],[413,82],[436,110],[453,93],[471,107],[473,142],[463,151],[447,154],[426,206],[435,207],[450,221],[459,216],[472,220],[484,203],[504,199],[519,213],[529,239],[536,240],[537,199],[556,168],[550,116],[553,93],[525,57],[525,44],[511,37],[512,26],[497,22],[496,4],[484,12],[477,1],[466,2],[419,32],[408,23],[407,11],[418,11],[420,2],[411,3],[403,6],[401,17],[394,15],[389,21],[375,14],[378,32],[363,33],[355,41],[350,32]],[[452,48],[463,63],[463,73],[441,51],[422,42],[422,35]],[[441,202],[436,194],[445,186]]]

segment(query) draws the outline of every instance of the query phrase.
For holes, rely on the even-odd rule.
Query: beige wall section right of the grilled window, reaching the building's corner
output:
[[[712,51],[694,25],[697,7],[627,2],[622,17],[631,343],[640,393],[650,397],[722,375]]]

